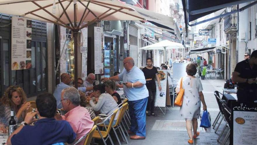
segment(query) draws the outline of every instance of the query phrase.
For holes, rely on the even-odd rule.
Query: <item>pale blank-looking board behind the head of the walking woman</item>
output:
[[[179,81],[183,76],[187,76],[186,67],[188,63],[172,63],[173,80]]]

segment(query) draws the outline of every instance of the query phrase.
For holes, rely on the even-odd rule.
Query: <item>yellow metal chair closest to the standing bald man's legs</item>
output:
[[[128,106],[128,103],[125,103],[125,104],[123,104],[123,105],[119,108],[119,109],[120,109],[120,112],[119,112],[118,118],[117,118],[117,120],[116,120],[116,124],[112,126],[112,129],[113,129],[113,131],[114,131],[114,133],[115,133],[115,136],[117,137],[117,140],[118,140],[118,142],[119,142],[120,145],[121,145],[121,142],[120,142],[120,140],[119,140],[119,137],[118,137],[118,134],[117,134],[117,132],[116,132],[116,129],[119,129],[119,132],[120,132],[120,134],[121,134],[121,137],[122,137],[123,141],[124,141],[124,138],[125,138],[125,139],[126,139],[126,142],[127,142],[127,144],[128,144],[128,139],[126,138],[126,135],[125,135],[125,133],[124,133],[122,127],[121,127],[121,120],[122,120],[122,118],[123,118],[123,116],[124,116],[124,114],[125,114],[125,112],[126,112],[127,106]],[[110,125],[110,124],[109,124],[109,125]],[[106,125],[106,126],[109,127],[109,125]],[[100,125],[100,126],[103,126],[103,125]],[[121,132],[122,132],[122,133],[121,133]]]

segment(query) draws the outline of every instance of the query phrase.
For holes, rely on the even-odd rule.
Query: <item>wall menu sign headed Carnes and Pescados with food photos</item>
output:
[[[31,63],[32,21],[27,18],[12,17],[12,53],[11,69],[30,69]]]

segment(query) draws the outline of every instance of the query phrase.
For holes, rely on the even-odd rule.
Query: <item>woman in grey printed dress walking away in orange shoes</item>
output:
[[[183,103],[180,107],[180,114],[186,120],[186,128],[189,136],[188,143],[193,144],[193,138],[199,136],[197,132],[197,119],[200,116],[201,102],[203,104],[203,110],[206,110],[206,104],[204,101],[204,95],[202,93],[203,87],[201,80],[196,78],[196,66],[195,64],[188,64],[186,67],[187,76],[183,77],[182,88],[185,89],[183,95]],[[180,91],[180,81],[178,82],[176,93]],[[192,126],[194,135],[192,135]]]

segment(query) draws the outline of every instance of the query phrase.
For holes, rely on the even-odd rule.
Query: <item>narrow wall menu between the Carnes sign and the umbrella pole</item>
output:
[[[65,45],[65,39],[66,39],[66,28],[60,26],[60,53],[62,52],[62,48],[64,46],[62,56],[60,59],[60,74],[66,73],[66,51],[67,51],[67,45]]]

